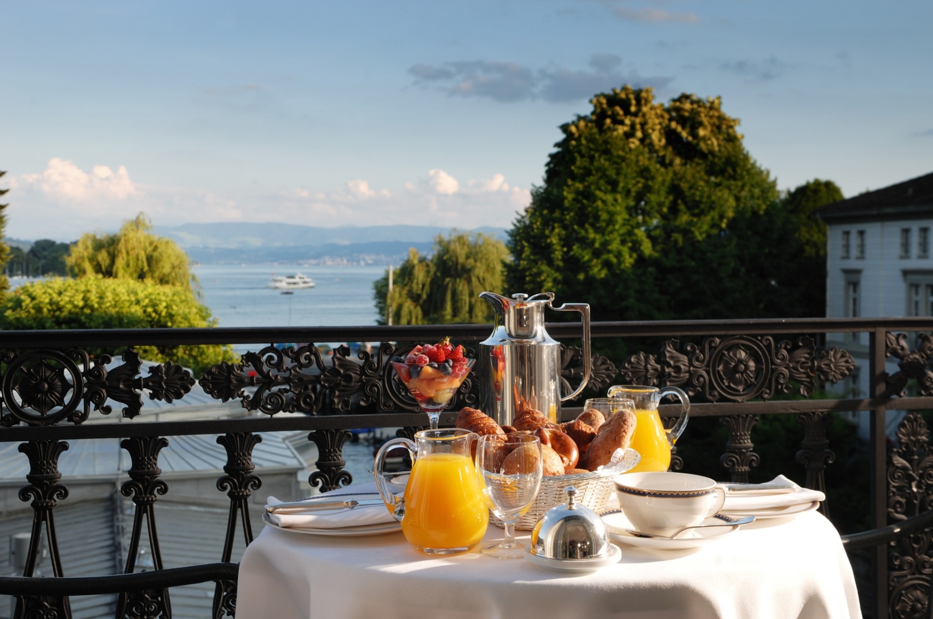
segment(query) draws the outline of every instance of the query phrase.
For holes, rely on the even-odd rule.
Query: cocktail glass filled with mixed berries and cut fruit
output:
[[[401,357],[392,360],[398,378],[401,378],[418,406],[431,420],[431,430],[438,429],[440,413],[450,404],[453,394],[460,389],[476,359],[460,359],[418,364]]]

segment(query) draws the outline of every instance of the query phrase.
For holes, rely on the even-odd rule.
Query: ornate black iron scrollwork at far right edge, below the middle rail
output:
[[[926,422],[918,413],[911,412],[900,422],[898,441],[898,447],[891,450],[887,468],[887,515],[905,520],[933,506],[933,450]],[[889,556],[890,616],[928,616],[933,573],[931,540],[931,529],[908,535],[898,541],[899,552]]]

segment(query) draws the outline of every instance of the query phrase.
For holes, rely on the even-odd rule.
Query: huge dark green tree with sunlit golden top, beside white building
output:
[[[732,277],[737,216],[779,194],[721,101],[651,89],[598,94],[564,124],[544,184],[509,232],[509,290],[588,301],[595,320],[733,318],[753,307]],[[754,305],[754,304],[752,304]]]

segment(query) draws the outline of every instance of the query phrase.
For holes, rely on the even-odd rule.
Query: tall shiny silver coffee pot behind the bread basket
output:
[[[482,293],[495,310],[493,335],[480,342],[482,410],[499,425],[511,425],[524,408],[536,408],[555,423],[561,402],[578,395],[590,380],[590,306],[564,303],[553,307],[554,293],[535,296]],[[583,315],[583,380],[561,396],[561,343],[544,328],[544,310],[578,311]]]

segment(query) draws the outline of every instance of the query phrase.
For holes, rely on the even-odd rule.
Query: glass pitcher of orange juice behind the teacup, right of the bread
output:
[[[670,430],[664,430],[658,404],[665,395],[680,400],[680,419]],[[687,393],[677,387],[649,387],[648,385],[617,385],[609,387],[610,398],[625,398],[635,403],[635,433],[632,448],[641,454],[641,461],[629,471],[666,471],[671,466],[671,447],[687,427],[690,401]]]

